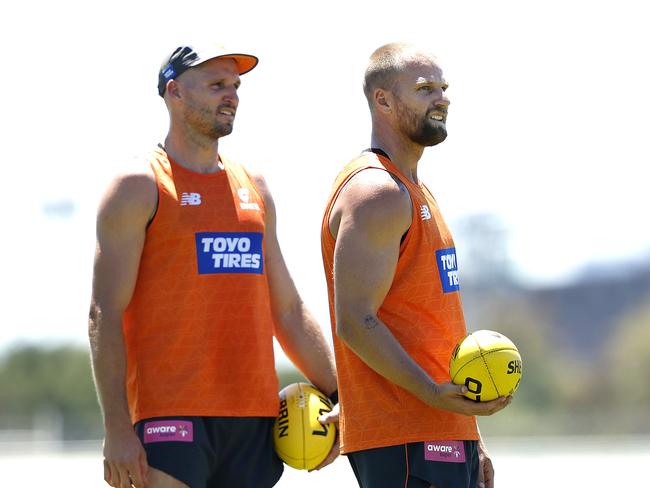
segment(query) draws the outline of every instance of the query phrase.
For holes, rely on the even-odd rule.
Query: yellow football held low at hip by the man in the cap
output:
[[[280,414],[273,426],[273,443],[280,459],[296,469],[314,469],[329,454],[336,437],[333,424],[318,417],[332,411],[332,403],[307,383],[293,383],[280,391]]]

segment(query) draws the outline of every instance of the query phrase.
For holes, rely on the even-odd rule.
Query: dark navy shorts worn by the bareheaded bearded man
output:
[[[413,442],[348,454],[361,488],[475,488],[477,441]]]

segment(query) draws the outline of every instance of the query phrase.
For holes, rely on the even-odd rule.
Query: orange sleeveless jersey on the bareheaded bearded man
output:
[[[341,401],[343,453],[407,442],[478,439],[474,417],[427,406],[369,368],[336,336],[334,240],[330,212],[345,184],[367,168],[388,171],[408,189],[413,221],[399,251],[393,283],[378,311],[406,352],[438,383],[449,382],[449,359],[466,334],[454,242],[431,193],[405,178],[388,158],[364,153],[337,177],[321,229]]]

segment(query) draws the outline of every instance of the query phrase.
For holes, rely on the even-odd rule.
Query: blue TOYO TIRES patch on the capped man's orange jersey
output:
[[[261,232],[197,232],[199,274],[264,274]]]

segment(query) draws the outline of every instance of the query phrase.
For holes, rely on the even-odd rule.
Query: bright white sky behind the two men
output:
[[[452,224],[498,215],[533,282],[650,255],[645,2],[221,3],[2,7],[0,348],[85,343],[99,195],[164,138],[157,70],[195,39],[260,57],[220,148],[266,175],[285,258],[324,326],[322,210],[337,171],[369,143],[366,60],[395,40],[435,52],[450,84],[449,137],[419,174]]]

